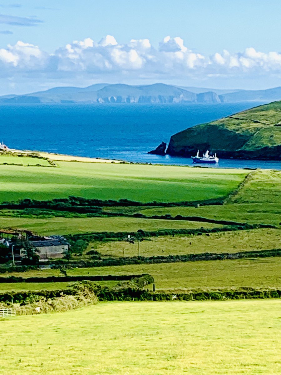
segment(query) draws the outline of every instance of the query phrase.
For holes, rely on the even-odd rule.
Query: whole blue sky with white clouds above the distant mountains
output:
[[[0,95],[281,86],[280,0],[0,0]]]

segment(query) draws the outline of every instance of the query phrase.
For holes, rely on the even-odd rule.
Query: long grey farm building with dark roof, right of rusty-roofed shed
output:
[[[42,237],[39,240],[31,240],[30,244],[37,250],[40,261],[49,258],[63,258],[69,248],[68,242],[61,236]]]

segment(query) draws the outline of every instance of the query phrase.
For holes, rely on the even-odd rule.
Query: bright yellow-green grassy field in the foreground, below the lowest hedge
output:
[[[280,300],[112,302],[1,322],[8,375],[275,375]]]

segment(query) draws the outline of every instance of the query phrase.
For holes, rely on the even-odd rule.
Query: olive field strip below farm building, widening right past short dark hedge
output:
[[[155,280],[156,291],[185,291],[221,288],[281,288],[281,257],[239,260],[196,261],[186,263],[137,264],[67,270],[75,275],[141,275],[148,273]],[[32,270],[8,275],[58,276],[59,270]],[[1,274],[0,277],[7,276]],[[152,288],[150,285],[149,288]]]

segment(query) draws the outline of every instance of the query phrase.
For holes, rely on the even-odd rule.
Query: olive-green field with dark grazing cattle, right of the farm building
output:
[[[158,255],[185,255],[209,253],[236,253],[240,251],[261,251],[281,248],[280,229],[252,229],[250,231],[229,231],[210,233],[209,236],[162,236],[151,237],[138,245],[127,242],[94,243],[102,255],[111,257],[134,257],[138,246],[142,257]]]

